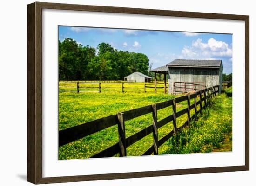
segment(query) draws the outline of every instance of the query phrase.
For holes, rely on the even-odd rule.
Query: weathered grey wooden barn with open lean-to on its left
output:
[[[168,74],[168,93],[198,91],[214,85],[222,90],[222,60],[175,59],[166,66],[151,70]],[[156,81],[156,80],[155,80]],[[166,86],[166,85],[165,85]]]

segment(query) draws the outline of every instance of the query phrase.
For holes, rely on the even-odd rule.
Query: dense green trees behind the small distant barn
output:
[[[135,71],[149,75],[148,68],[143,53],[118,51],[108,43],[94,48],[72,38],[59,41],[59,80],[123,80]]]

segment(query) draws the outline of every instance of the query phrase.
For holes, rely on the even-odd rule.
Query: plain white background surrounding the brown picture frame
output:
[[[62,183],[63,186],[253,186],[256,161],[254,135],[256,119],[252,97],[256,88],[256,11],[254,1],[232,0],[45,0],[47,2],[123,6],[136,8],[167,9],[192,12],[230,13],[250,15],[250,171],[232,173],[208,173],[182,176],[137,178],[124,180]],[[27,186],[27,4],[32,0],[5,0],[0,6],[0,185]],[[11,87],[11,86],[13,87]],[[254,146],[254,147],[253,147]],[[53,184],[48,184],[51,186]]]

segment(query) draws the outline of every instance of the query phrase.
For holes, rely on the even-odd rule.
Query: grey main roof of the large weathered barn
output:
[[[172,67],[206,67],[206,68],[220,68],[222,60],[206,60],[206,59],[175,59],[166,66]]]

